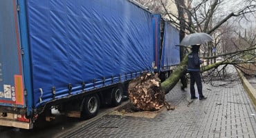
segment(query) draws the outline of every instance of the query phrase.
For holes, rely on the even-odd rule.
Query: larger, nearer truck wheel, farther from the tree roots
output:
[[[82,101],[82,119],[89,119],[98,114],[100,108],[100,98],[98,95],[88,95]]]

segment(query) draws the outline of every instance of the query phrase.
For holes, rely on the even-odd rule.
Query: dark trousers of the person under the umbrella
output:
[[[191,95],[191,97],[196,96],[196,93],[194,90],[194,83],[196,83],[199,97],[202,97],[203,96],[203,93],[202,93],[203,86],[202,86],[200,72],[190,72],[190,95]]]

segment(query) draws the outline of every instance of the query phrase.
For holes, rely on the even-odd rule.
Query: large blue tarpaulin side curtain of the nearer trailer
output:
[[[27,6],[35,107],[52,99],[53,87],[55,98],[64,97],[69,83],[75,94],[82,81],[92,90],[151,70],[152,17],[133,3],[28,0]]]

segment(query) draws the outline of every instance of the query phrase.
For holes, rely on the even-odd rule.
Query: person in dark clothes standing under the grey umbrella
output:
[[[196,83],[197,90],[199,93],[199,100],[206,99],[207,97],[203,96],[202,92],[202,81],[200,75],[200,64],[203,63],[199,59],[199,48],[200,45],[193,45],[192,52],[188,55],[188,72],[190,73],[190,95],[191,99],[197,99],[196,93],[194,90],[194,83]]]

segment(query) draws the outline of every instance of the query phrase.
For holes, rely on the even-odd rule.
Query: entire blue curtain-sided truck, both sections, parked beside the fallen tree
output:
[[[120,105],[131,79],[179,62],[169,58],[177,31],[131,0],[1,0],[0,126]]]

